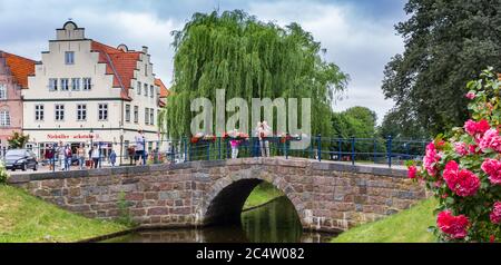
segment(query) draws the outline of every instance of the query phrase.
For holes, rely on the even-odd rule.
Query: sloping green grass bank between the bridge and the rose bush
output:
[[[433,243],[428,227],[435,224],[433,210],[438,203],[428,199],[384,219],[350,229],[333,243]]]

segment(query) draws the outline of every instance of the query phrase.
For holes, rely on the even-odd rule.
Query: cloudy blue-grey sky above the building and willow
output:
[[[55,29],[71,18],[87,38],[110,46],[148,46],[155,72],[173,76],[170,32],[194,12],[243,9],[282,26],[298,22],[327,49],[326,60],[352,81],[335,110],[365,106],[381,118],[393,106],[381,91],[383,69],[403,51],[394,24],[406,19],[405,0],[0,0],[0,50],[40,60]]]

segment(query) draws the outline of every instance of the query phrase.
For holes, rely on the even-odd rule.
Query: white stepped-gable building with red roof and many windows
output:
[[[87,39],[84,28],[68,21],[49,40],[22,91],[23,131],[41,149],[94,141],[125,153],[120,143],[134,143],[138,129],[148,141],[159,138],[156,122],[166,88],[158,84],[147,47],[114,48]]]

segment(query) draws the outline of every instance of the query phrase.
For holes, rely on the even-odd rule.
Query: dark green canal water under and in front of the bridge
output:
[[[240,225],[145,230],[105,243],[325,243],[335,236],[304,232],[294,206],[286,197],[279,197],[265,206],[243,212]]]

